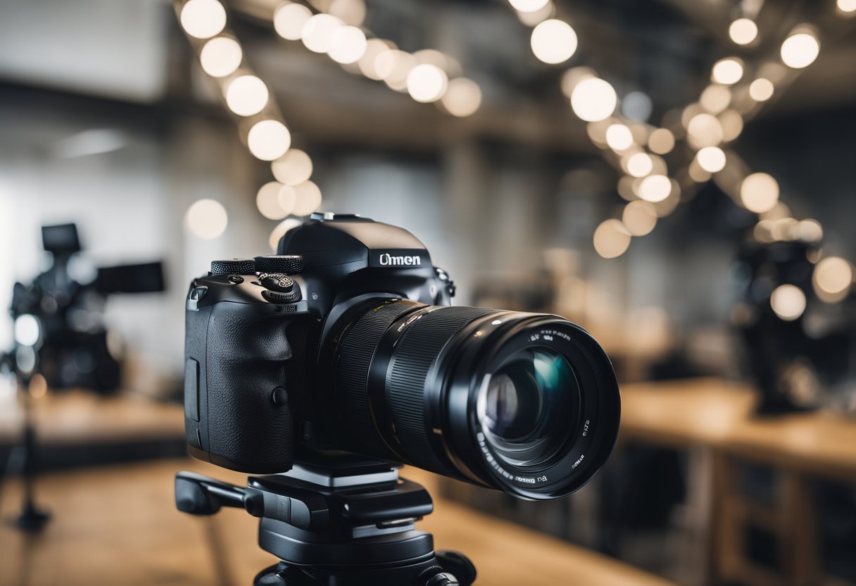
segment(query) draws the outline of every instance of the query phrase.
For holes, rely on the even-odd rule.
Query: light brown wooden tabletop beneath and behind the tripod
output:
[[[226,481],[234,472],[181,459],[134,466],[63,472],[39,481],[39,503],[53,511],[40,535],[0,526],[0,583],[251,584],[274,563],[257,546],[257,520],[224,509],[213,517],[175,510],[173,476],[192,469]],[[405,472],[426,487],[437,477]],[[18,503],[20,487],[4,491],[3,517]],[[419,523],[439,548],[466,552],[482,586],[668,586],[669,583],[580,547],[435,499],[435,513]]]

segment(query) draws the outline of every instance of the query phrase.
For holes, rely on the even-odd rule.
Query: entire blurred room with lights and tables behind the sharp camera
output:
[[[856,583],[854,74],[854,0],[0,0],[0,583],[270,563],[174,509],[183,298],[316,211],[612,358],[572,497],[409,470],[479,583]]]

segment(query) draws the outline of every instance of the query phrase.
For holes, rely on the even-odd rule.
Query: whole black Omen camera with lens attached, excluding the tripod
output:
[[[618,385],[580,326],[450,307],[422,242],[354,214],[313,214],[276,252],[190,286],[195,457],[276,474],[344,451],[524,499],[572,493],[606,461]]]

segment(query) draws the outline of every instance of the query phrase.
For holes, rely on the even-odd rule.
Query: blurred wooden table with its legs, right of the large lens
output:
[[[715,582],[819,583],[808,483],[856,483],[856,420],[818,412],[756,417],[754,402],[750,386],[716,379],[625,385],[621,439],[690,454],[691,509],[698,526],[712,528],[704,573]],[[740,463],[776,469],[775,505],[744,497]],[[780,572],[746,558],[742,528],[749,524],[778,536]]]

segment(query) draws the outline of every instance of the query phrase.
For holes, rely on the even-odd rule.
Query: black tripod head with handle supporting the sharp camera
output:
[[[431,534],[413,528],[433,510],[428,491],[377,460],[318,457],[286,474],[251,476],[246,488],[179,472],[175,505],[260,517],[259,546],[282,561],[259,572],[255,586],[469,586],[476,577],[463,554],[435,553]]]

